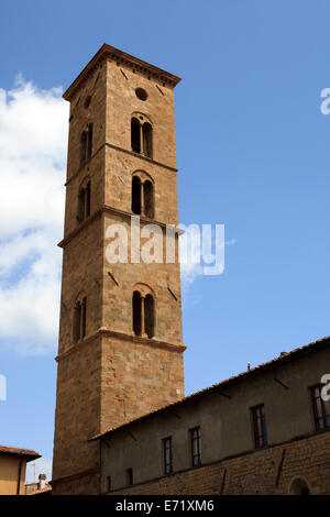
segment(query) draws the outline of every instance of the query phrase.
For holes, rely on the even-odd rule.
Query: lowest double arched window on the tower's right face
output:
[[[133,332],[135,336],[155,334],[155,301],[150,293],[141,294],[134,290],[132,299],[133,309]]]

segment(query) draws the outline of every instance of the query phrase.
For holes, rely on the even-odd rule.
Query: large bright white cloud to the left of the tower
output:
[[[53,351],[58,328],[68,106],[18,78],[0,89],[0,339]]]

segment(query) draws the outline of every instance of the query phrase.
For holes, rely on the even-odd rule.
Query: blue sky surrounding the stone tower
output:
[[[21,251],[15,238],[34,235],[43,210],[15,226],[0,209],[2,257],[9,257],[2,258],[6,265],[0,261],[0,312],[2,304],[10,315],[0,318],[0,374],[8,382],[1,443],[52,457],[58,318],[52,293],[58,278],[44,265],[54,261],[57,272],[61,263],[67,107],[58,88],[73,81],[103,42],[183,77],[175,90],[180,221],[223,223],[226,240],[235,241],[226,249],[223,275],[197,277],[184,292],[187,394],[244,371],[248,361],[256,365],[329,334],[330,116],[320,112],[320,91],[330,87],[329,22],[330,4],[322,0],[2,0],[0,88],[12,109],[7,125],[0,111],[0,151],[12,147],[1,174],[10,164],[15,178],[8,179],[2,206],[9,199],[15,217],[29,178],[47,185],[48,193],[54,185],[58,202],[47,231],[37,235],[44,262],[32,272],[35,241],[25,239]],[[24,120],[13,116],[15,102],[26,108],[16,110],[26,113]],[[44,108],[46,120],[42,109],[40,120],[31,118],[28,102]],[[10,128],[8,144],[1,123]],[[40,138],[43,124],[42,133],[53,131],[54,139]],[[20,131],[26,127],[29,133],[30,125],[35,148],[26,144],[21,153]],[[15,151],[21,164],[26,156],[37,163],[30,164],[25,183],[14,169]],[[40,197],[34,189],[34,206]],[[20,297],[15,287],[28,273],[30,287]],[[41,274],[55,287],[42,300],[43,314],[25,314],[20,299],[32,294],[31,306],[37,306]],[[35,292],[33,280],[40,280]]]

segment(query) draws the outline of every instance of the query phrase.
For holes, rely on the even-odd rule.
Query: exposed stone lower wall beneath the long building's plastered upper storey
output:
[[[295,476],[308,481],[311,494],[330,494],[329,431],[174,473],[112,494],[278,495],[288,493]]]

